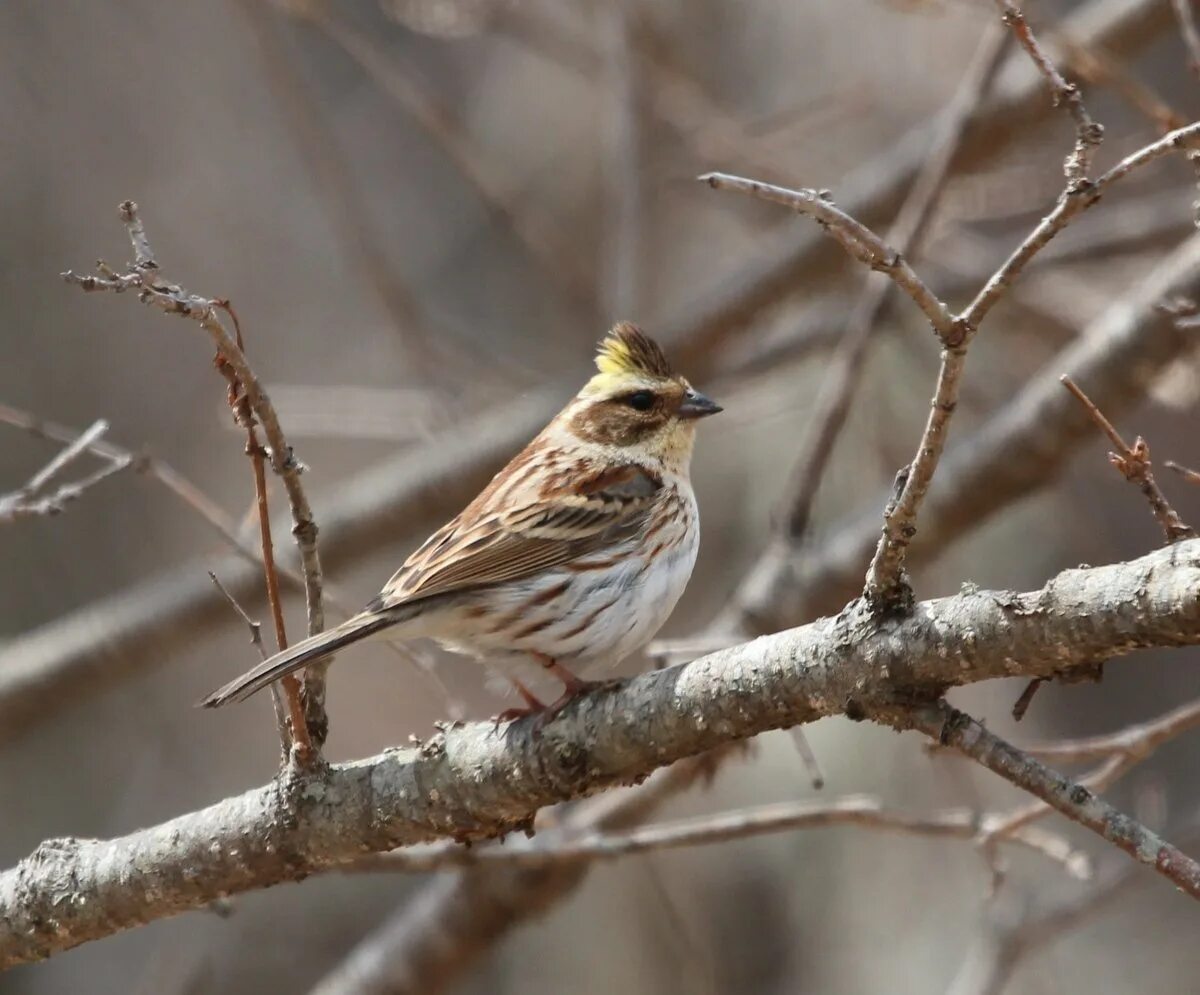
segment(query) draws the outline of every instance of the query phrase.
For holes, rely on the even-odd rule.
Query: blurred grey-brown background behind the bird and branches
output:
[[[1146,92],[1183,120],[1200,109],[1168,0],[1039,2],[1031,16],[1060,53],[1074,52],[1076,73],[1085,56],[1072,44],[1098,23],[1117,25],[1090,49],[1106,71],[1093,66],[1085,83],[1106,127],[1102,164],[1160,133]],[[323,526],[330,509],[383,499],[370,488],[394,478],[359,476],[380,461],[402,476],[473,433],[521,431],[506,420],[524,418],[532,434],[529,412],[540,418],[565,401],[606,326],[631,318],[690,356],[698,385],[726,408],[701,432],[701,556],[665,633],[695,634],[772,535],[830,350],[868,277],[829,241],[811,274],[782,281],[743,318],[706,326],[697,314],[719,310],[810,224],[694,178],[722,169],[827,187],[847,203],[844,191],[900,168],[911,146],[901,139],[953,98],[995,20],[983,0],[8,0],[0,403],[78,428],[107,419],[110,440],[167,460],[253,540],[244,439],[203,332],[58,278],[96,257],[127,258],[115,209],[130,197],[167,277],[235,304],[247,352],[310,467]],[[995,91],[1012,91],[1025,68],[1002,70]],[[1062,187],[1072,133],[1048,104],[1038,89],[1015,132],[1012,116],[985,115],[965,139],[973,151],[952,170],[917,259],[952,305]],[[953,443],[1187,238],[1194,182],[1186,164],[1164,161],[1048,251],[972,350]],[[894,208],[880,200],[869,218],[886,228]],[[853,516],[878,514],[918,438],[936,364],[913,308],[886,310],[821,482],[805,537],[815,551]],[[1198,464],[1195,397],[1183,362],[1140,404],[1110,414],[1156,456]],[[491,473],[520,442],[473,473]],[[0,492],[53,452],[0,424]],[[964,581],[1034,587],[1066,567],[1157,545],[1144,502],[1104,454],[1096,434],[1034,496],[925,556],[918,595]],[[1200,519],[1200,491],[1163,484],[1184,519]],[[335,593],[365,601],[462,503],[452,487],[433,488],[420,514],[383,516],[341,551],[328,529]],[[286,529],[277,543],[288,545]],[[74,636],[107,645],[106,619],[127,607],[125,592],[138,600],[172,585],[203,589],[209,558],[228,562],[209,523],[132,472],[60,516],[0,528],[0,639],[10,646],[72,619],[83,619]],[[203,597],[204,612],[170,637],[144,640],[136,661],[124,645],[97,655],[97,675],[112,669],[120,679],[46,703],[0,742],[0,863],[46,838],[125,833],[272,775],[265,697],[220,713],[192,707],[253,659],[233,612]],[[288,597],[299,633],[302,598]],[[265,612],[260,598],[246,604]],[[426,735],[449,714],[505,707],[472,663],[431,659],[437,679],[385,647],[347,654],[331,675],[331,759]],[[0,645],[0,670],[5,661]],[[1019,684],[954,697],[1019,742],[1078,736],[1194,696],[1198,663],[1193,651],[1142,655],[1100,684],[1049,687],[1015,730]],[[850,792],[912,811],[1018,802],[916,737],[830,719],[809,738],[824,771],[820,792],[791,737],[776,733],[655,817]],[[1194,736],[1169,744],[1112,799],[1186,825],[1200,803],[1198,749]],[[1046,825],[1102,868],[1114,857],[1057,817]],[[1086,889],[1037,856],[1007,857],[995,899],[970,843],[851,828],[608,863],[455,990],[948,990],[997,921]],[[0,993],[308,990],[427,883],[328,875],[240,897],[221,915],[181,916],[14,970]],[[1198,927],[1200,910],[1147,873],[1032,952],[1007,990],[1190,990]]]

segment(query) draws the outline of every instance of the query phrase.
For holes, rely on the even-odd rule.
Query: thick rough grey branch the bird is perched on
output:
[[[902,619],[854,603],[587,695],[540,738],[528,723],[455,725],[420,749],[294,775],[127,837],[46,843],[0,875],[0,966],[364,852],[528,827],[545,805],[770,729],[1195,643],[1200,540],[1067,570],[1031,593],[965,591]]]

